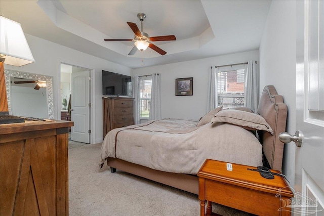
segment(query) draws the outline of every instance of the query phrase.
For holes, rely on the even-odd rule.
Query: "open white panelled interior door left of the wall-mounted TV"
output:
[[[72,72],[71,140],[90,143],[90,71]]]

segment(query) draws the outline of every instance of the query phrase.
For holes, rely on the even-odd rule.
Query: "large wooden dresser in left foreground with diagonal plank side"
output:
[[[0,124],[0,215],[68,215],[70,126]]]

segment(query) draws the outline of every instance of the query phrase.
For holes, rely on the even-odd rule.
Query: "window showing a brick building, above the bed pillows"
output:
[[[245,70],[230,70],[217,73],[218,106],[224,108],[244,106]]]

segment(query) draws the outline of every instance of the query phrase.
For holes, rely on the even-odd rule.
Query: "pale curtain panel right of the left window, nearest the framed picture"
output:
[[[152,74],[152,92],[149,120],[161,118],[161,104],[160,104],[160,74]]]

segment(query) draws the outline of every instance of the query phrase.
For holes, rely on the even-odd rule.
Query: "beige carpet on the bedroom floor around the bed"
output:
[[[126,172],[99,169],[101,144],[69,149],[69,215],[199,215],[198,196]],[[222,215],[249,215],[213,204]]]

